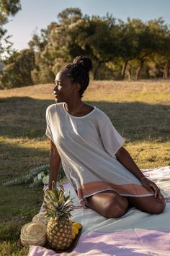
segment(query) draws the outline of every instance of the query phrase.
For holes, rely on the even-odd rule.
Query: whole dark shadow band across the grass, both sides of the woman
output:
[[[0,136],[42,138],[45,135],[45,110],[55,101],[12,97],[2,98],[0,103]],[[104,111],[126,140],[133,142],[169,139],[169,106],[140,102],[86,101],[86,103]]]

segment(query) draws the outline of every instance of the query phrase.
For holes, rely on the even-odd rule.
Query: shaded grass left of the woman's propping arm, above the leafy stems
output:
[[[0,143],[0,184],[27,174],[30,168],[48,163],[49,150],[38,147],[28,148],[25,143],[22,142],[21,145],[17,145],[17,142],[15,145],[7,144],[5,141]]]

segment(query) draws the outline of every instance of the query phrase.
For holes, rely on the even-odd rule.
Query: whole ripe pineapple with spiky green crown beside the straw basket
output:
[[[65,196],[63,186],[58,190],[55,182],[52,183],[52,190],[45,190],[43,207],[46,210],[45,216],[50,217],[47,225],[48,243],[54,249],[66,249],[70,246],[72,239],[71,217],[72,200]]]

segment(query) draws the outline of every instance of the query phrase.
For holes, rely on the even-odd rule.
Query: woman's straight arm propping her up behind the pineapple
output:
[[[50,140],[50,179],[48,188],[52,189],[52,182],[57,182],[58,171],[61,165],[61,157],[58,154],[58,150],[55,147],[55,144]]]

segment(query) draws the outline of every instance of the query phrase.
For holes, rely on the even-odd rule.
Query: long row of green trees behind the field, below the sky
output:
[[[78,55],[93,61],[94,80],[169,78],[170,30],[161,18],[123,22],[112,14],[89,17],[79,8],[67,8],[58,14],[58,22],[33,35],[29,46],[32,57],[21,52],[6,59],[0,77],[4,88],[53,82],[55,74]],[[31,61],[25,64],[24,59]]]

